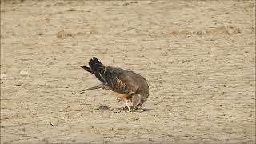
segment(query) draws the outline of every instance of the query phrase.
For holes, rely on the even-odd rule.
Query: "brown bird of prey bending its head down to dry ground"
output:
[[[98,58],[90,58],[89,66],[81,66],[82,69],[94,74],[101,84],[90,87],[86,90],[111,90],[115,96],[126,103],[129,112],[138,110],[149,97],[149,85],[146,78],[131,70],[124,70],[118,67],[104,66]],[[86,90],[82,90],[83,93]],[[132,102],[134,108],[130,109],[128,101]]]

